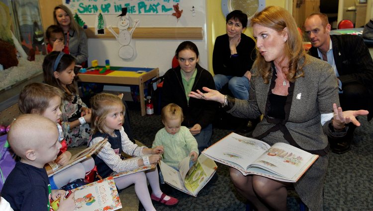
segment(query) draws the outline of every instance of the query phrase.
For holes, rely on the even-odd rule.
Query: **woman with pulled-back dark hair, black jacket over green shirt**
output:
[[[199,153],[211,145],[212,121],[216,112],[215,102],[200,101],[189,98],[192,90],[203,86],[215,89],[215,83],[209,71],[198,65],[197,46],[185,41],[176,50],[179,66],[165,73],[161,107],[175,103],[182,107],[184,121],[182,126],[189,128],[198,143]]]

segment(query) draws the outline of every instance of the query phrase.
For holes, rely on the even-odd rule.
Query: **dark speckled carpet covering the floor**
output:
[[[149,147],[157,131],[163,127],[159,115],[141,117],[140,111],[133,109],[130,111],[130,121],[134,138]],[[373,126],[371,122],[367,122],[366,117],[360,118],[360,121],[362,126],[355,131],[352,150],[341,155],[329,154],[329,168],[324,185],[324,211],[373,211]],[[231,132],[214,128],[212,142]],[[228,167],[220,163],[217,165],[217,181],[207,184],[196,198],[172,189],[170,195],[179,199],[179,205],[167,208],[155,204],[157,211],[244,211],[245,199],[230,182]],[[122,203],[125,204],[126,201]],[[288,209],[299,210],[298,203],[292,196],[288,197]]]

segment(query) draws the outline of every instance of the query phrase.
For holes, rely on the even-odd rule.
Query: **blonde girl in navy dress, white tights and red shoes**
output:
[[[94,158],[98,173],[102,177],[107,177],[113,171],[129,171],[159,161],[160,153],[163,152],[162,146],[149,149],[145,146],[138,146],[128,139],[122,127],[125,108],[118,96],[99,93],[91,98],[91,105],[93,137],[89,145],[108,138],[108,142]],[[120,156],[122,151],[138,159],[122,160]],[[149,196],[146,179],[149,180],[153,190],[151,196]],[[157,168],[118,177],[114,181],[119,190],[135,184],[136,195],[146,211],[155,211],[151,200],[169,207],[176,206],[179,202],[161,191]]]

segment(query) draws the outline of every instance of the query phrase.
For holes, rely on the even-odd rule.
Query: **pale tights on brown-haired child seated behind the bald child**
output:
[[[53,175],[53,180],[56,186],[60,189],[62,186],[73,182],[76,179],[84,179],[86,172],[91,171],[94,168],[94,160],[92,157],[79,162],[69,168]]]

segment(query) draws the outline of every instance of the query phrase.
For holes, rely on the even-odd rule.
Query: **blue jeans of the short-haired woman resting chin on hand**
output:
[[[228,83],[228,88],[235,98],[241,100],[249,99],[250,80],[246,76],[237,77],[216,74],[214,75],[214,81],[216,90],[220,91],[221,88]]]

